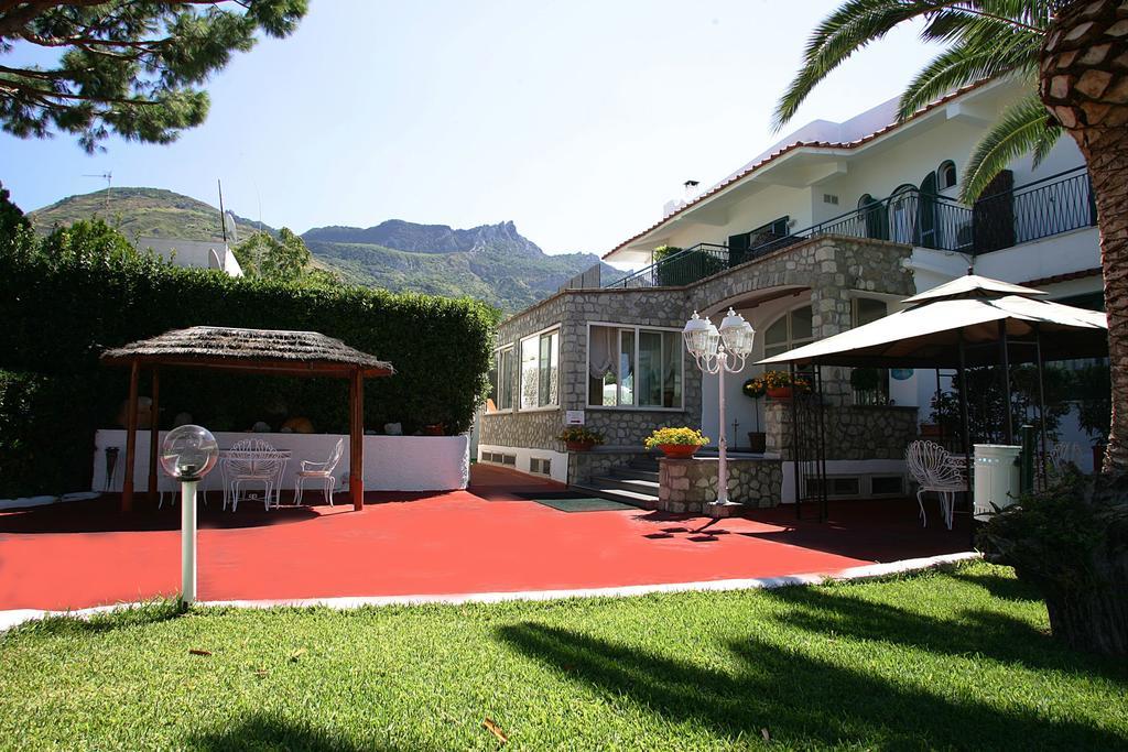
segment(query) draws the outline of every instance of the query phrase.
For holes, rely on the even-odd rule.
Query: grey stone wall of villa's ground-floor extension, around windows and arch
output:
[[[635,410],[590,407],[588,396],[588,326],[623,324],[680,329],[695,309],[715,309],[729,301],[772,289],[810,289],[816,338],[852,325],[852,298],[857,291],[913,294],[913,276],[901,260],[911,249],[883,240],[825,236],[799,242],[684,287],[641,290],[566,290],[504,321],[499,345],[512,345],[520,359],[521,337],[559,326],[559,407],[485,415],[483,444],[563,451],[556,441],[564,410],[584,410],[589,427],[603,432],[607,448],[633,451],[659,426],[700,427],[702,375],[682,353],[682,409]],[[513,373],[520,398],[520,363]],[[823,393],[834,405],[851,393],[845,369],[828,378]],[[860,418],[861,419],[861,418]],[[849,423],[847,432],[856,431]],[[770,441],[770,439],[769,439]],[[772,448],[768,448],[772,451]]]

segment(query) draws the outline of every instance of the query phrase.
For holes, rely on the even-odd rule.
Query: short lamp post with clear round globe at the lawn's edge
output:
[[[196,600],[196,485],[212,471],[219,444],[208,428],[184,425],[165,436],[160,463],[180,481],[180,600]]]

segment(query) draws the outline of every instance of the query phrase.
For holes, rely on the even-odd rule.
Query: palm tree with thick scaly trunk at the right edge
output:
[[[1061,135],[1089,163],[1101,236],[1109,318],[1112,421],[1104,470],[1128,472],[1128,3],[1119,0],[847,0],[814,29],[776,127],[853,53],[922,20],[923,39],[946,48],[901,95],[905,120],[944,94],[1011,76],[1029,94],[976,147],[961,187],[971,203],[1015,158],[1037,165]]]

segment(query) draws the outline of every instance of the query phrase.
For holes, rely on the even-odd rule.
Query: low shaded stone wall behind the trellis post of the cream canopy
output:
[[[917,437],[917,408],[825,406],[828,460],[900,460]],[[767,451],[785,460],[791,453],[791,402],[768,400],[764,412]]]

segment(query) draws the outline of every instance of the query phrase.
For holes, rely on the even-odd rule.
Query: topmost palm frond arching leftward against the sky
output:
[[[778,131],[794,117],[814,87],[851,55],[906,21],[946,14],[948,27],[959,26],[959,18],[966,17],[1037,35],[1040,27],[1021,19],[1040,18],[1051,5],[1052,0],[846,0],[808,39],[803,63],[776,105],[773,127]]]

